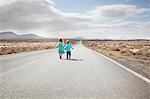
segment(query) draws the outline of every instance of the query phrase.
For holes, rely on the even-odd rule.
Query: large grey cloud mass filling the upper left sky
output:
[[[17,1],[0,7],[1,29],[32,30],[42,28],[47,31],[81,29],[79,22],[89,19],[74,13],[63,13],[47,0]]]

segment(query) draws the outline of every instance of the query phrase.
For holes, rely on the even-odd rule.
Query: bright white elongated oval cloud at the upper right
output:
[[[118,19],[126,16],[140,14],[147,10],[150,11],[150,9],[137,8],[134,5],[105,5],[88,11],[87,14],[93,18]]]

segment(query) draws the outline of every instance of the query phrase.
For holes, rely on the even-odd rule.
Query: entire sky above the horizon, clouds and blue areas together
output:
[[[0,32],[150,39],[150,0],[0,0]]]

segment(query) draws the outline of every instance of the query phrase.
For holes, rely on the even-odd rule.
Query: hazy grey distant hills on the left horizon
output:
[[[47,39],[45,37],[41,37],[35,34],[24,34],[17,35],[14,32],[1,32],[0,40],[36,40],[36,39]]]

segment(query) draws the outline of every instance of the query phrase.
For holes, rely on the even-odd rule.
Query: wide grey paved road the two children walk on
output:
[[[0,57],[0,99],[150,99],[150,85],[77,45],[73,60],[55,49]]]

